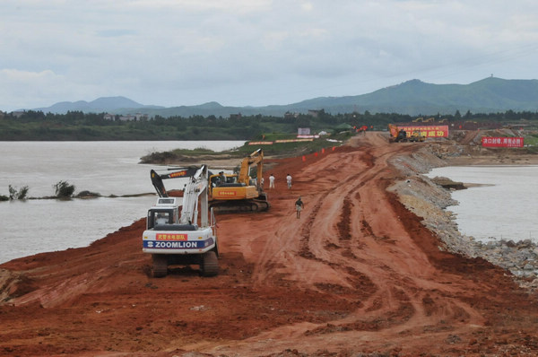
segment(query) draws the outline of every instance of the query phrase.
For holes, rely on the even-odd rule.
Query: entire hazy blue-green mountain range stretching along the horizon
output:
[[[265,107],[223,107],[217,102],[196,106],[156,107],[136,103],[124,97],[100,98],[91,102],[76,101],[56,103],[41,108],[44,112],[65,113],[67,110],[84,112],[109,112],[111,114],[134,114],[140,112],[150,117],[160,115],[190,117],[229,117],[230,114],[283,116],[286,112],[307,113],[310,109],[325,112],[399,113],[409,115],[454,114],[459,110],[473,113],[499,111],[538,110],[538,80],[505,80],[489,77],[470,84],[430,84],[417,79],[386,87],[369,94],[346,97],[321,97],[287,105]]]

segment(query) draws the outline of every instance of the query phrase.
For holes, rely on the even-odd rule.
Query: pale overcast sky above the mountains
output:
[[[290,104],[538,77],[538,1],[0,0],[0,110]]]

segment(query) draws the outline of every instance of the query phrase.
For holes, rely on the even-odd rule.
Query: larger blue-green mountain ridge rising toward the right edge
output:
[[[331,113],[353,110],[410,115],[491,113],[538,109],[537,80],[486,78],[471,84],[430,84],[412,80],[369,94],[325,97],[292,104],[295,109],[325,109]]]

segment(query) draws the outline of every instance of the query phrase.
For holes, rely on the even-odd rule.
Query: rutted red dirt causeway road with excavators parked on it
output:
[[[0,355],[538,355],[537,297],[439,250],[386,191],[399,175],[389,159],[415,147],[367,133],[306,161],[266,161],[272,208],[217,217],[214,278],[193,266],[153,279],[143,220],[5,263]]]

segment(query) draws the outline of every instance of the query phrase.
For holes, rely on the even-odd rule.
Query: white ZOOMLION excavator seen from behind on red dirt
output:
[[[166,276],[168,267],[176,265],[198,265],[202,276],[217,275],[219,248],[213,210],[208,205],[207,166],[173,173],[171,178],[183,177],[188,181],[180,213],[179,197],[170,197],[166,191],[163,196],[158,188],[163,186],[155,184],[162,175],[152,170],[151,176],[159,198],[148,210],[142,240],[143,252],[152,254],[153,277]]]

